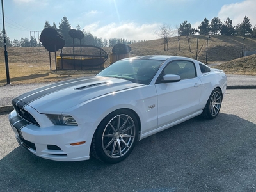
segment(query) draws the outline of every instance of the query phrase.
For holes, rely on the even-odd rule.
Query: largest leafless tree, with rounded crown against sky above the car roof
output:
[[[163,38],[164,40],[164,51],[169,51],[168,42],[170,42],[170,38],[175,34],[175,30],[172,26],[168,24],[163,24],[157,28],[154,33]]]

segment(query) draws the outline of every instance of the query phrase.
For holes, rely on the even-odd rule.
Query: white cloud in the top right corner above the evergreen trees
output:
[[[243,22],[245,15],[250,19],[252,27],[256,24],[255,0],[245,0],[241,3],[232,3],[222,6],[218,17],[224,22],[228,17],[232,20],[233,26]]]

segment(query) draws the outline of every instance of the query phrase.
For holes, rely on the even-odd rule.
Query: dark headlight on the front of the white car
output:
[[[77,126],[76,120],[70,115],[52,115],[47,114],[48,118],[54,125],[71,125]]]

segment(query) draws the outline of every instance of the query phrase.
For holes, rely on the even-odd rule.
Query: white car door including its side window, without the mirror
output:
[[[163,83],[166,74],[180,76],[179,82]],[[202,82],[196,76],[195,63],[171,61],[156,82],[158,127],[170,124],[200,110]]]

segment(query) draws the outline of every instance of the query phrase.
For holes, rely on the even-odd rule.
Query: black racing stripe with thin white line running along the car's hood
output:
[[[49,95],[50,93],[57,92],[58,90],[63,90],[66,88],[70,88],[72,86],[76,86],[84,83],[93,83],[95,81],[100,81],[106,79],[105,77],[84,77],[79,79],[72,79],[69,81],[61,81],[59,83],[49,84],[48,86],[44,86],[42,88],[38,88],[28,93],[24,93],[13,100],[21,100],[25,104],[29,104],[29,102],[33,102],[40,97],[44,97],[45,95]]]

